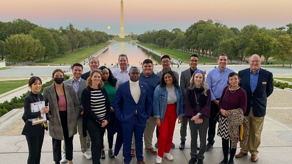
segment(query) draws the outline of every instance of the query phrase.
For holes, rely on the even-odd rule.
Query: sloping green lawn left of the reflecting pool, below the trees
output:
[[[60,64],[64,63],[65,61],[67,62],[67,65],[74,64],[76,62],[82,62],[84,59],[86,59],[85,54],[88,56],[92,55],[92,53],[95,53],[99,50],[101,50],[104,46],[110,44],[109,42],[106,43],[101,43],[96,46],[91,46],[88,48],[84,48],[82,50],[75,51],[70,54],[65,54],[65,55],[59,55],[56,56],[55,58],[52,59],[46,59],[45,61],[42,60],[41,62],[36,62],[36,63],[48,63],[48,64]],[[35,64],[34,64],[35,65]]]

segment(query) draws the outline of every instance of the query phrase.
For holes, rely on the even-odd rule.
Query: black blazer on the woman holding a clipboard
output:
[[[40,93],[37,93],[40,101],[43,101],[44,98]],[[40,117],[40,111],[38,112],[32,112],[31,108],[30,108],[30,104],[31,103],[35,103],[38,102],[39,100],[37,100],[36,96],[34,95],[33,92],[30,92],[23,101],[23,107],[24,107],[24,116],[26,119],[33,119],[33,118],[38,118]],[[37,125],[33,125],[32,122],[30,121],[26,121],[25,125],[23,127],[22,130],[22,135],[26,135],[26,136],[30,136],[30,137],[34,137],[37,136],[41,133],[43,133],[45,130],[45,128],[43,128],[41,126],[41,124],[37,124]]]

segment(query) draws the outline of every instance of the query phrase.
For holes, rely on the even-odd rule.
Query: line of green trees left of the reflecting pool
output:
[[[44,28],[26,19],[0,21],[0,57],[9,56],[17,62],[36,61],[75,52],[108,41],[105,32],[85,27]]]

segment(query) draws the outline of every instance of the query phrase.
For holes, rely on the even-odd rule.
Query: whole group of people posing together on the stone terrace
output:
[[[32,125],[30,119],[43,113],[47,115],[55,164],[67,161],[73,164],[73,136],[77,131],[82,155],[92,159],[92,164],[100,164],[100,159],[106,157],[103,149],[106,129],[110,158],[117,156],[123,145],[125,164],[130,163],[132,156],[137,157],[138,164],[145,164],[144,138],[145,150],[157,154],[156,163],[162,163],[164,157],[173,160],[170,149],[175,147],[172,140],[176,122],[181,124],[181,150],[189,123],[189,164],[203,164],[205,151],[215,143],[217,121],[217,135],[222,138],[223,150],[223,160],[219,164],[234,164],[234,156],[241,158],[248,152],[256,162],[267,97],[273,92],[273,74],[260,69],[260,57],[252,55],[251,68],[237,74],[226,67],[227,55],[220,54],[218,68],[206,77],[204,71],[197,68],[199,57],[191,55],[190,68],[183,71],[180,78],[179,73],[171,70],[170,59],[169,55],[161,57],[163,69],[158,73],[153,72],[152,60],[145,59],[140,72],[137,67],[128,68],[128,56],[120,54],[120,68],[111,72],[106,66],[99,67],[99,60],[91,57],[91,70],[87,73],[83,73],[82,64],[73,64],[72,79],[64,81],[63,71],[56,69],[52,76],[54,84],[44,88],[43,94],[39,93],[41,79],[32,76],[29,80],[31,92],[24,99],[27,120],[22,132],[29,148],[27,163],[40,163],[46,127]],[[31,112],[30,104],[43,100],[48,105],[39,112]],[[155,128],[158,151],[152,146]],[[238,132],[240,128],[243,128],[242,133]],[[238,138],[241,150],[235,155]]]

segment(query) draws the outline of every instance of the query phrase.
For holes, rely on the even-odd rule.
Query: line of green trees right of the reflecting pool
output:
[[[289,61],[292,55],[292,23],[283,27],[267,29],[255,24],[228,28],[221,21],[199,20],[185,32],[179,28],[168,30],[148,30],[137,37],[139,41],[178,51],[208,55],[216,58],[221,53],[230,60],[242,61],[253,54]]]

